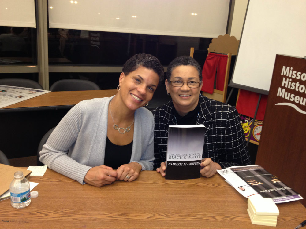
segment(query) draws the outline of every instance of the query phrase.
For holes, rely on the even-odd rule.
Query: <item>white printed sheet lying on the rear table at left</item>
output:
[[[0,85],[0,108],[46,94],[50,91]]]

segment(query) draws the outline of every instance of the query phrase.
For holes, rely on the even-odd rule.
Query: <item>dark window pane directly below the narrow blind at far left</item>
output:
[[[0,64],[36,64],[36,29],[0,26]]]

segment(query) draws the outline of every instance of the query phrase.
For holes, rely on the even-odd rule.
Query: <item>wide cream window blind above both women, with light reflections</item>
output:
[[[218,37],[230,0],[49,0],[49,27],[150,35]]]

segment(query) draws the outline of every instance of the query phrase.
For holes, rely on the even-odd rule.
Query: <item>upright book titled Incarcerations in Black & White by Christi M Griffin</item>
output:
[[[204,125],[169,126],[166,179],[200,178],[204,133]]]

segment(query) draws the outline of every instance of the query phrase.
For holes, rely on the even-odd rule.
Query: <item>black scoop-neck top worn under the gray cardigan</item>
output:
[[[133,141],[127,145],[118,146],[106,137],[104,165],[118,169],[121,165],[130,163],[132,147]]]

